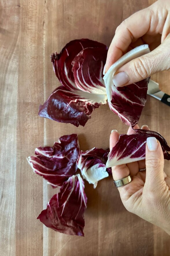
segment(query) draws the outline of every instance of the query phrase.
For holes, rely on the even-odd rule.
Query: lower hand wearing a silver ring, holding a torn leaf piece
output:
[[[135,125],[134,129],[139,129]],[[145,125],[141,129],[149,130]],[[127,134],[133,134],[129,128]],[[117,143],[119,134],[114,131],[110,135],[110,150]],[[162,147],[156,138],[152,143],[147,140],[146,159],[138,162],[112,167],[115,181],[125,178],[129,174],[132,181],[119,187],[119,193],[125,208],[142,219],[164,229],[170,235],[170,178],[164,172],[164,156]],[[149,145],[152,150],[149,150]],[[146,171],[139,169],[146,168]]]

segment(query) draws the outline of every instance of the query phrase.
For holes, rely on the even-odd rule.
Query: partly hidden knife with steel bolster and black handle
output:
[[[156,98],[157,100],[167,104],[170,107],[170,95],[164,93],[159,89],[159,84],[149,80],[147,94]]]

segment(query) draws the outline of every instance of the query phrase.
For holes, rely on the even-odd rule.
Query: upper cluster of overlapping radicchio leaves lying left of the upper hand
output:
[[[73,40],[66,44],[60,54],[53,53],[53,68],[63,86],[55,89],[47,101],[40,105],[38,115],[77,127],[84,126],[91,118],[93,109],[106,104],[102,75],[106,56],[106,45],[89,39]]]

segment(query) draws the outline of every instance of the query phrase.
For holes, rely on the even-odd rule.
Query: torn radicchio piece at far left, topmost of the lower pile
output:
[[[35,156],[29,156],[27,160],[35,173],[58,187],[77,171],[79,152],[77,134],[64,135],[53,147],[36,148]]]

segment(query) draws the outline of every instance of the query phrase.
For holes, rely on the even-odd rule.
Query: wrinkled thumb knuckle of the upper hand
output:
[[[150,74],[148,62],[142,57],[134,61],[133,70],[139,79],[146,78]]]

